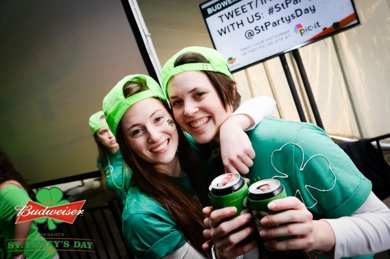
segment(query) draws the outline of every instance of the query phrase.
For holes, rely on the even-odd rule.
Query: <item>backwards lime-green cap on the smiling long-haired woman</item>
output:
[[[123,85],[136,77],[143,78],[149,90],[125,98],[123,95]],[[150,97],[158,97],[163,102],[167,100],[160,85],[152,77],[143,74],[127,75],[111,89],[103,99],[103,111],[108,128],[111,129],[115,137],[116,128],[125,111],[131,105]]]

